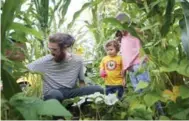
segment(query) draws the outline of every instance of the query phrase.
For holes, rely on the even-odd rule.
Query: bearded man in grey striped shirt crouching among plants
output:
[[[51,55],[46,55],[27,67],[32,71],[42,72],[44,100],[73,98],[103,93],[99,86],[86,86],[84,83],[83,61],[80,56],[69,53],[67,49],[74,43],[69,34],[56,33],[49,37],[48,48]],[[75,88],[79,79],[80,88]]]

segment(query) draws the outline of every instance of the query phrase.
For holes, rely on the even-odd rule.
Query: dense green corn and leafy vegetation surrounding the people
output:
[[[87,105],[80,109],[81,119],[135,119],[163,120],[189,119],[189,1],[188,0],[88,0],[72,21],[65,27],[65,15],[70,0],[1,0],[1,119],[51,119],[61,115],[70,119],[66,102],[41,100],[41,76],[28,72],[25,65],[48,53],[48,35],[61,30],[73,33],[76,43],[73,51],[84,51],[87,65],[86,80],[103,85],[98,66],[105,55],[103,44],[114,38],[118,29],[127,29],[140,38],[141,52],[149,57],[148,69],[151,83],[140,83],[135,93],[127,78],[127,93],[114,105],[105,102]],[[23,9],[24,8],[24,9]],[[83,21],[93,35],[94,48],[88,51],[86,32],[75,31],[77,18],[85,10],[90,11],[91,21]],[[130,16],[131,24],[120,23],[117,13]],[[60,29],[61,28],[61,29]],[[12,40],[26,48],[12,44]],[[81,41],[82,40],[82,41]],[[15,43],[15,42],[13,42]],[[80,45],[80,46],[78,46]],[[12,50],[9,56],[7,50]],[[24,59],[11,59],[24,54]],[[141,70],[142,71],[142,70]],[[31,86],[21,91],[16,80],[23,77]],[[77,102],[79,98],[68,100]],[[155,103],[161,101],[165,115],[159,115]]]

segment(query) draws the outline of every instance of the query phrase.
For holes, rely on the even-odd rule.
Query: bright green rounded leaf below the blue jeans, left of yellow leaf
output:
[[[144,96],[144,101],[146,105],[149,107],[152,106],[155,102],[157,102],[160,99],[161,97],[155,92],[150,92]]]

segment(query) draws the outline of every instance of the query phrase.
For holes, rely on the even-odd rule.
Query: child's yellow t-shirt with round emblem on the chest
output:
[[[105,70],[105,85],[122,85],[122,58],[120,55],[105,56],[100,63],[100,70]]]

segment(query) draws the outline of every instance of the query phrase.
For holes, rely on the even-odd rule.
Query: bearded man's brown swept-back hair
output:
[[[49,36],[49,42],[58,43],[60,48],[68,48],[74,44],[75,39],[69,34],[55,33]]]

